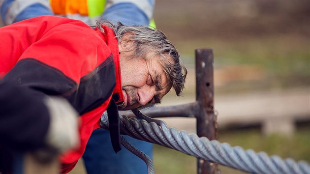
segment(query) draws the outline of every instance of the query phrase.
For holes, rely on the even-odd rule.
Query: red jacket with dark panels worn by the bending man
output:
[[[0,77],[66,98],[80,113],[81,146],[62,155],[62,173],[85,151],[112,98],[124,102],[118,42],[77,20],[43,16],[0,28]]]

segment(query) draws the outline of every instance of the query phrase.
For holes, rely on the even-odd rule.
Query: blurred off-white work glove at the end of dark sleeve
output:
[[[62,152],[79,146],[78,113],[63,98],[48,96],[44,100],[50,115],[45,137],[46,147],[35,152],[41,161],[48,161]]]

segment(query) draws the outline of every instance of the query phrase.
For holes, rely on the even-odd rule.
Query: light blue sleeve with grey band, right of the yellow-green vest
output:
[[[154,0],[107,0],[101,19],[148,26],[153,18],[154,3]]]

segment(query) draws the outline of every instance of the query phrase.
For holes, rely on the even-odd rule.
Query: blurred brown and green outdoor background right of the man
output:
[[[221,143],[310,163],[310,1],[156,0],[158,29],[188,68],[182,97],[195,101],[195,49],[212,48]],[[165,118],[195,133],[194,118]],[[156,174],[196,174],[196,159],[155,146]],[[242,172],[219,166],[222,174]]]

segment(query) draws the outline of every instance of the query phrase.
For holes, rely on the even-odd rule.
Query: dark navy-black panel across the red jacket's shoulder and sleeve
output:
[[[3,81],[31,87],[47,95],[62,96],[82,115],[100,106],[112,95],[116,75],[112,55],[82,77],[80,84],[54,67],[34,58],[26,58],[19,61]]]

